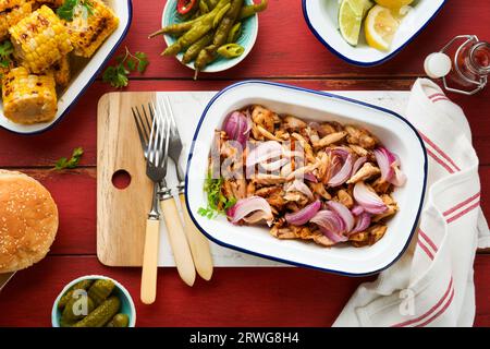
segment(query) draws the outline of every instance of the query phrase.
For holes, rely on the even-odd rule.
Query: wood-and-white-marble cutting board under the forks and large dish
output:
[[[408,92],[335,92],[402,112]],[[194,131],[213,92],[110,93],[101,97],[97,125],[97,254],[109,266],[140,266],[145,224],[151,206],[152,184],[146,177],[146,164],[131,113],[155,98],[170,98],[184,151],[191,146]],[[186,156],[181,159],[185,168]],[[112,184],[115,172],[124,170],[131,183],[124,190]],[[169,163],[167,181],[175,188],[174,166]],[[175,194],[175,193],[174,193]],[[216,266],[278,266],[277,262],[243,254],[211,243]],[[174,266],[164,225],[160,228],[160,266]]]

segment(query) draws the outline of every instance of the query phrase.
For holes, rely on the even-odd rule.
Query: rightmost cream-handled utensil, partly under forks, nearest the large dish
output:
[[[209,241],[206,237],[197,230],[196,226],[191,219],[187,205],[185,204],[185,182],[184,182],[184,171],[180,165],[180,158],[182,156],[182,141],[179,134],[179,129],[176,127],[175,118],[172,110],[172,105],[168,96],[164,98],[163,103],[164,117],[170,124],[170,147],[169,156],[175,164],[175,171],[179,179],[179,197],[181,201],[181,206],[183,208],[185,233],[187,234],[187,240],[191,245],[191,252],[194,258],[194,265],[197,273],[205,280],[210,280],[212,276],[212,256],[209,249]]]

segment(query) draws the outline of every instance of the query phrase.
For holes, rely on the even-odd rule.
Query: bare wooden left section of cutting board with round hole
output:
[[[151,201],[137,130],[131,107],[155,100],[155,93],[111,93],[98,105],[97,122],[97,255],[109,266],[140,266],[145,222]],[[118,171],[131,182],[112,183]]]

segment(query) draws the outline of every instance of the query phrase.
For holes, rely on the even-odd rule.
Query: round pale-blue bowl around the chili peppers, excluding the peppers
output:
[[[246,3],[252,4],[253,0],[245,0]],[[179,19],[179,13],[176,11],[176,3],[177,0],[168,0],[166,3],[166,7],[163,9],[163,14],[161,19],[161,25],[168,26],[173,23],[179,23],[181,20]],[[235,67],[240,62],[242,62],[248,53],[250,53],[252,49],[254,48],[255,41],[257,40],[258,35],[258,14],[255,14],[248,19],[245,19],[242,21],[242,34],[236,41],[236,44],[241,45],[245,51],[236,58],[226,59],[223,57],[218,58],[212,63],[210,63],[206,69],[203,71],[205,73],[216,73],[221,72],[224,70],[228,70],[232,67]],[[164,35],[164,40],[167,46],[172,45],[175,43],[175,38],[170,35]],[[182,58],[184,57],[184,53],[181,52],[176,56],[176,59],[182,63]],[[185,67],[191,68],[194,70],[194,62],[191,62],[188,64],[185,64]]]

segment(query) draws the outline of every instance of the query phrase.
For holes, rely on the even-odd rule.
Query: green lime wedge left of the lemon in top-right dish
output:
[[[366,0],[343,0],[339,9],[340,33],[352,46],[356,46],[359,41],[365,5]]]

